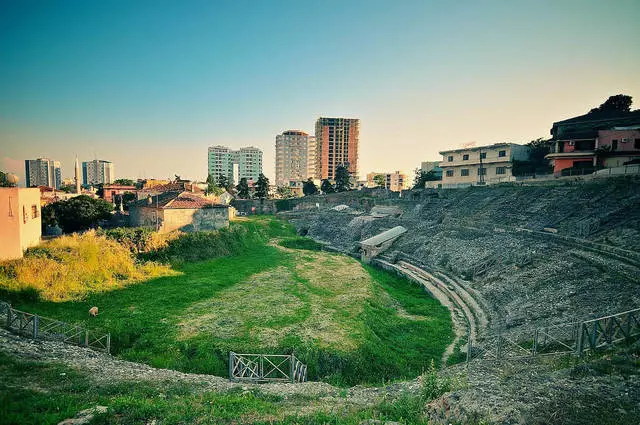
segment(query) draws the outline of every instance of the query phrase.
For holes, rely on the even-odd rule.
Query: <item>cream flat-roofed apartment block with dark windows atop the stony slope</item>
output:
[[[456,188],[515,181],[513,161],[529,160],[528,146],[496,143],[442,151],[442,187]]]

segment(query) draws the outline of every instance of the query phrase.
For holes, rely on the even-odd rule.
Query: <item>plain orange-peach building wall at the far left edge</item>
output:
[[[40,189],[0,187],[0,261],[22,258],[40,243]]]

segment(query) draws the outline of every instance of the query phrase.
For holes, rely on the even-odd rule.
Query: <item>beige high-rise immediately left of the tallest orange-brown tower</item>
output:
[[[289,186],[315,175],[316,138],[288,130],[276,136],[276,185]]]

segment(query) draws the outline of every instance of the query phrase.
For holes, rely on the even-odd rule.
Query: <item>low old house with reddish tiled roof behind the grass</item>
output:
[[[217,230],[229,226],[229,206],[192,192],[165,192],[132,204],[129,222],[131,226],[154,227],[162,233]]]

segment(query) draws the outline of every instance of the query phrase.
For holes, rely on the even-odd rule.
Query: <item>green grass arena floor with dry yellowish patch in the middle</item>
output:
[[[274,218],[186,235],[146,257],[171,262],[175,273],[75,301],[3,297],[110,332],[120,358],[220,376],[232,350],[294,351],[310,379],[339,385],[413,378],[432,359],[438,364],[453,339],[448,311],[421,288],[320,251]],[[88,317],[92,306],[96,318]]]

